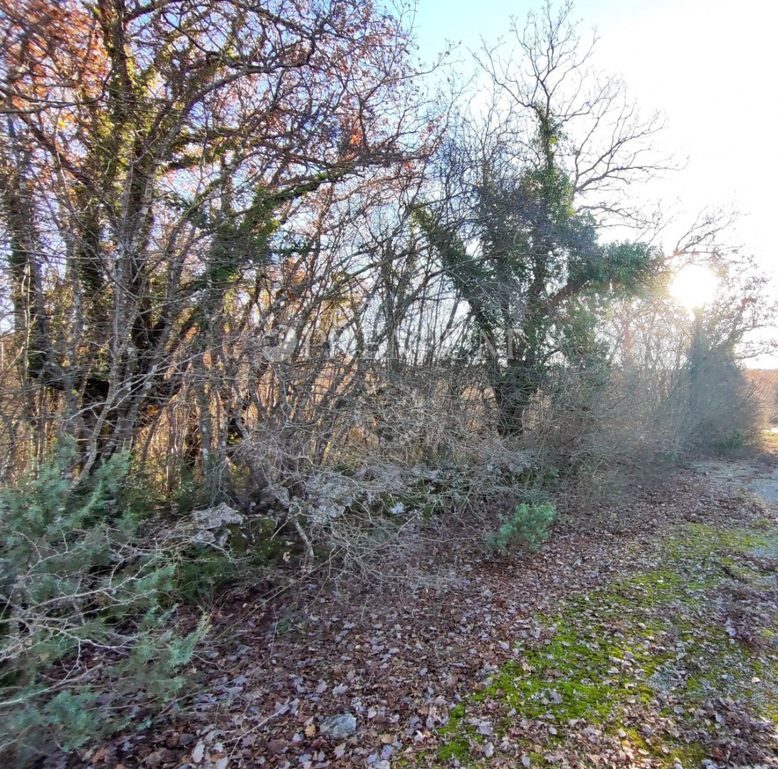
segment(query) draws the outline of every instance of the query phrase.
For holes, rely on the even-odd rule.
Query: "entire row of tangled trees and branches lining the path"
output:
[[[283,532],[307,567],[366,568],[403,531],[413,550],[499,511],[501,548],[538,543],[553,483],[759,427],[738,355],[765,282],[722,247],[726,217],[663,250],[630,207],[672,166],[661,117],[591,71],[569,5],[514,21],[458,99],[403,14],[362,0],[0,0],[0,21],[6,522],[42,520],[12,488],[54,472],[79,521],[65,551],[103,566],[156,574],[165,538],[179,562],[234,554],[207,531],[181,550],[200,507],[244,552]],[[694,315],[668,297],[683,262],[720,275]],[[117,458],[142,523],[127,500],[72,507]],[[40,542],[62,534],[46,510]],[[18,537],[0,543],[9,664],[51,621],[17,595]]]

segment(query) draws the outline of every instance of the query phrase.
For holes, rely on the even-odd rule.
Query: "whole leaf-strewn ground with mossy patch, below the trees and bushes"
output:
[[[679,472],[533,556],[307,595],[224,607],[194,715],[87,763],[778,767],[772,459]]]

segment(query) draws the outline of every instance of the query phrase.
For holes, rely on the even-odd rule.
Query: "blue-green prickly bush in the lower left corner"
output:
[[[74,485],[72,456],[0,486],[0,756],[19,766],[170,703],[205,634],[175,621],[175,550],[117,503],[128,458]]]

